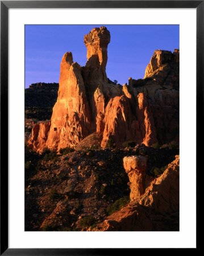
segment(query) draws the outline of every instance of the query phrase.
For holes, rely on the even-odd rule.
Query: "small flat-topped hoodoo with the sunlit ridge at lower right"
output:
[[[94,231],[114,230],[178,230],[179,218],[179,155],[162,175],[145,183],[146,159],[124,157],[124,168],[131,185],[131,202],[99,223]]]

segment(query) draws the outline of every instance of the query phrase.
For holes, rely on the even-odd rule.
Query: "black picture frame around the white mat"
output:
[[[116,255],[136,249],[14,249],[8,247],[8,11],[10,8],[194,8],[197,11],[197,134],[203,142],[204,1],[1,1],[1,255]],[[189,50],[190,51],[190,50]],[[197,155],[197,168],[202,158]],[[198,249],[198,243],[197,248]],[[161,249],[163,250],[163,249]]]

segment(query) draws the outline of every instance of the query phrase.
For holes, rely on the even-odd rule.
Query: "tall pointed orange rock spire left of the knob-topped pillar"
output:
[[[64,61],[65,56],[62,62]],[[61,65],[61,68],[64,67],[65,70],[61,69],[60,72],[59,96],[53,108],[47,139],[48,148],[55,150],[74,146],[89,134],[90,127],[90,109],[80,65],[70,65],[68,61]]]

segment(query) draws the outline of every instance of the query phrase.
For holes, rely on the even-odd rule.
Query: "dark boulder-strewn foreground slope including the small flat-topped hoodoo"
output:
[[[178,230],[178,149],[85,149],[97,140],[87,137],[61,155],[26,150],[26,230]]]

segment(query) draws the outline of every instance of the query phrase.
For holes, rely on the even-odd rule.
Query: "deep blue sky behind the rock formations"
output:
[[[128,78],[141,79],[155,49],[179,48],[178,25],[26,25],[25,86],[35,82],[59,82],[61,58],[72,52],[74,62],[84,66],[84,35],[94,27],[106,26],[107,77],[120,84]]]

